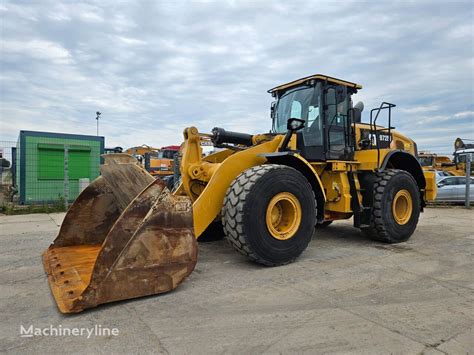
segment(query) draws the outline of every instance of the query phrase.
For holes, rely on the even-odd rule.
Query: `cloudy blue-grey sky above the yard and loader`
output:
[[[179,143],[182,130],[257,133],[266,90],[323,73],[397,104],[419,149],[474,138],[472,1],[0,1],[0,140],[95,134]]]

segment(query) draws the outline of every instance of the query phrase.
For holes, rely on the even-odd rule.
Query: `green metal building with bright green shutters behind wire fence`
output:
[[[0,142],[0,151],[3,201],[68,203],[99,176],[104,138],[21,131],[17,142]]]

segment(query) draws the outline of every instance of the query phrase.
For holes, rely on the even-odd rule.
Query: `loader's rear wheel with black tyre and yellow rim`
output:
[[[385,243],[408,240],[420,216],[420,192],[413,176],[404,170],[375,173],[374,204],[370,227],[362,229],[371,239]]]

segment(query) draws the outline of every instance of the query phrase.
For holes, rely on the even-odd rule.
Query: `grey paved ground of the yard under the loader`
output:
[[[58,312],[40,254],[64,214],[0,216],[0,351],[6,353],[400,353],[473,351],[474,212],[428,208],[406,243],[351,221],[317,230],[297,262],[267,268],[225,241],[200,244],[168,294]],[[20,337],[20,327],[118,336]]]

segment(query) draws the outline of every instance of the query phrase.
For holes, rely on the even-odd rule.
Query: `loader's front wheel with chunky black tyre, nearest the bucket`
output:
[[[273,201],[278,201],[279,196],[285,197],[281,205],[275,205]],[[284,200],[287,196],[289,199]],[[272,206],[280,213],[275,220]],[[291,215],[291,211],[296,212]],[[283,224],[281,230],[290,226],[290,232],[282,236],[277,234],[282,233],[278,229],[281,220],[298,223]],[[227,240],[239,253],[259,264],[277,266],[294,261],[311,241],[315,223],[313,190],[306,178],[291,167],[268,164],[250,168],[234,180],[224,199],[222,224]]]

